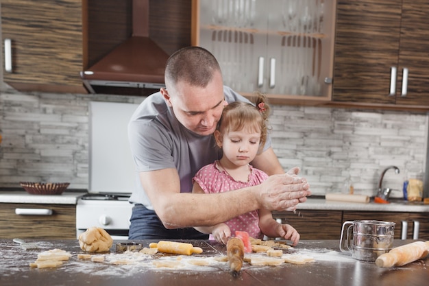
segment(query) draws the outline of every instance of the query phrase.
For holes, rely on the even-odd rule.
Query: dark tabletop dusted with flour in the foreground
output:
[[[34,240],[29,242],[35,242]],[[123,256],[114,250],[105,254],[106,261],[95,263],[77,259],[84,253],[77,240],[48,240],[38,242],[39,250],[21,250],[11,239],[0,239],[0,285],[300,285],[300,286],[404,286],[426,285],[429,281],[429,257],[402,267],[381,268],[373,262],[358,261],[349,254],[339,252],[338,240],[299,241],[298,246],[284,253],[295,253],[313,257],[315,261],[296,265],[283,263],[279,266],[256,266],[243,264],[241,272],[235,276],[228,270],[228,263],[219,262],[215,257],[225,255],[225,246],[215,241],[183,241],[203,248],[202,254],[191,257],[169,254],[144,256],[143,260],[128,258],[133,264],[112,264],[124,261]],[[130,242],[130,241],[122,241]],[[134,241],[149,246],[154,241]],[[158,242],[158,241],[156,241]],[[412,240],[395,240],[393,246],[400,246]],[[38,253],[53,248],[71,252],[72,257],[56,268],[38,269],[29,267]],[[138,253],[137,253],[138,254]],[[122,258],[121,258],[122,256]],[[140,255],[142,257],[142,255]],[[154,261],[176,261],[179,268],[155,267]],[[210,266],[193,265],[191,261],[217,261]],[[110,261],[110,263],[108,263]],[[190,263],[186,266],[186,263]],[[176,264],[177,265],[177,264]]]

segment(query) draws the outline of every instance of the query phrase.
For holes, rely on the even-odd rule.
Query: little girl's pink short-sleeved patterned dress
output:
[[[249,181],[236,181],[230,176],[230,174],[219,169],[217,163],[218,160],[216,160],[215,163],[202,167],[193,178],[193,182],[197,182],[201,189],[203,189],[204,193],[223,193],[245,187],[252,187],[260,184],[268,178],[268,175],[265,174],[265,172],[252,167],[252,165],[249,165]],[[232,235],[234,235],[236,230],[240,230],[247,231],[251,237],[260,239],[263,238],[259,228],[259,217],[257,210],[245,213],[238,217],[234,217],[233,219],[225,222],[225,224],[230,227]],[[212,235],[210,235],[209,239],[214,238]]]

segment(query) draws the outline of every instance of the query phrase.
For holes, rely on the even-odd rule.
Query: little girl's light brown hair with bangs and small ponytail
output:
[[[221,134],[243,130],[243,128],[249,132],[260,132],[262,147],[267,141],[269,111],[267,97],[262,93],[256,93],[255,105],[247,102],[232,102],[225,106],[216,130]]]

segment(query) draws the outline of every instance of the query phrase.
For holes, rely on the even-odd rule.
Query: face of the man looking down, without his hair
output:
[[[203,136],[215,132],[225,103],[220,73],[205,88],[177,82],[175,86],[167,86],[167,90],[161,88],[161,93],[177,120],[188,130]]]

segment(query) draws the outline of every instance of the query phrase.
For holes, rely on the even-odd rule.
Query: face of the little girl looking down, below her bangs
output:
[[[215,131],[217,145],[223,150],[223,158],[236,166],[247,165],[258,154],[260,132],[244,128],[239,131],[230,131],[221,134]]]

